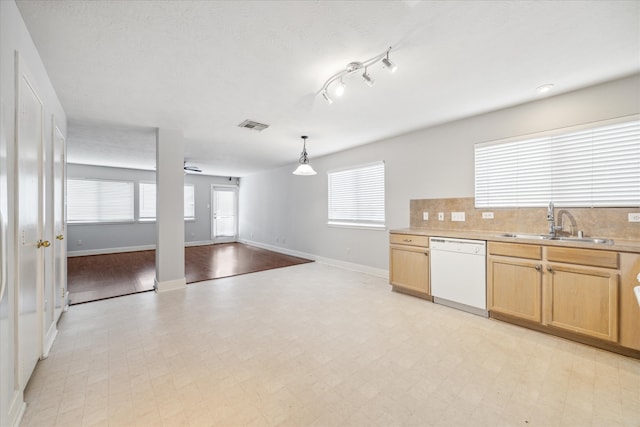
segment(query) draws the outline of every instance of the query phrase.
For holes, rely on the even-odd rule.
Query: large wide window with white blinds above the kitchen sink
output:
[[[640,206],[638,117],[477,144],[476,207]]]

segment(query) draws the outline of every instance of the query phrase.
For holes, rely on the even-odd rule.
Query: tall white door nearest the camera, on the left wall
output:
[[[43,104],[19,62],[16,155],[18,195],[19,384],[24,387],[42,354],[41,293],[43,251],[42,137]]]

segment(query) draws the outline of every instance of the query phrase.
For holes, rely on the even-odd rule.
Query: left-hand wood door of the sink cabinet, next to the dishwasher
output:
[[[488,258],[489,311],[540,322],[542,274],[539,262]]]

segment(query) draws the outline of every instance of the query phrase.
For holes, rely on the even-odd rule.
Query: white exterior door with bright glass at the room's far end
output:
[[[235,242],[238,234],[238,188],[213,186],[211,213],[213,242]]]

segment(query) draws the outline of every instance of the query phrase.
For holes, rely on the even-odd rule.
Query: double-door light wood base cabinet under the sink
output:
[[[618,342],[617,252],[501,242],[488,250],[492,314]]]

